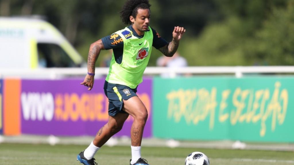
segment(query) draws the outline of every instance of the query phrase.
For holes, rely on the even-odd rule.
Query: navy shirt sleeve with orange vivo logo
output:
[[[106,50],[114,48],[123,48],[123,39],[116,33],[101,38],[103,46]]]

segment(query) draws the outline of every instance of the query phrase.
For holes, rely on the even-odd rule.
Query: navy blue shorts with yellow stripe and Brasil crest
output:
[[[126,85],[112,84],[105,81],[104,93],[108,98],[108,115],[115,116],[118,113],[126,113],[122,110],[123,100],[137,96],[137,87],[132,89]]]

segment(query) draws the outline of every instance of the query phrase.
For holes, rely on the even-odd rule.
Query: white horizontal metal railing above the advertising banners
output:
[[[40,69],[0,69],[0,78],[32,77],[56,79],[64,76],[86,75],[87,68],[40,68]],[[107,75],[108,68],[96,68],[96,77]],[[213,67],[147,67],[145,75],[168,74],[173,78],[177,74],[234,74],[237,78],[248,73],[294,73],[294,66],[213,66]]]

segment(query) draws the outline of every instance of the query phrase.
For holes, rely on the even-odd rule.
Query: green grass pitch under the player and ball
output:
[[[1,165],[79,165],[76,155],[87,146],[46,144],[0,144]],[[293,152],[142,147],[142,157],[151,165],[184,165],[193,151],[205,153],[212,165],[293,164]],[[102,147],[95,155],[99,165],[129,165],[130,147]]]

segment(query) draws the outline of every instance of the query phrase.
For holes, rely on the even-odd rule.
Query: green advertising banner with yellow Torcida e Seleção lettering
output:
[[[294,142],[294,77],[153,80],[153,135]]]

